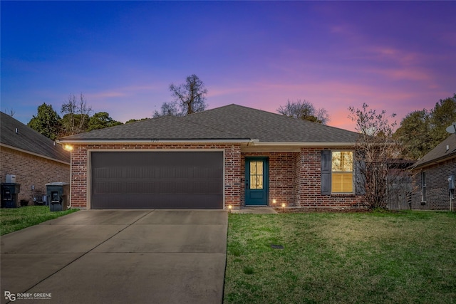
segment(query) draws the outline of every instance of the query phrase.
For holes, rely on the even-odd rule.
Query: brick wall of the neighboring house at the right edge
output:
[[[427,200],[421,201],[421,172],[426,172]],[[419,210],[450,210],[448,195],[448,177],[456,176],[456,158],[432,164],[415,174],[415,191],[412,195],[412,209]],[[455,204],[453,202],[453,204]],[[456,210],[456,208],[455,208]]]

